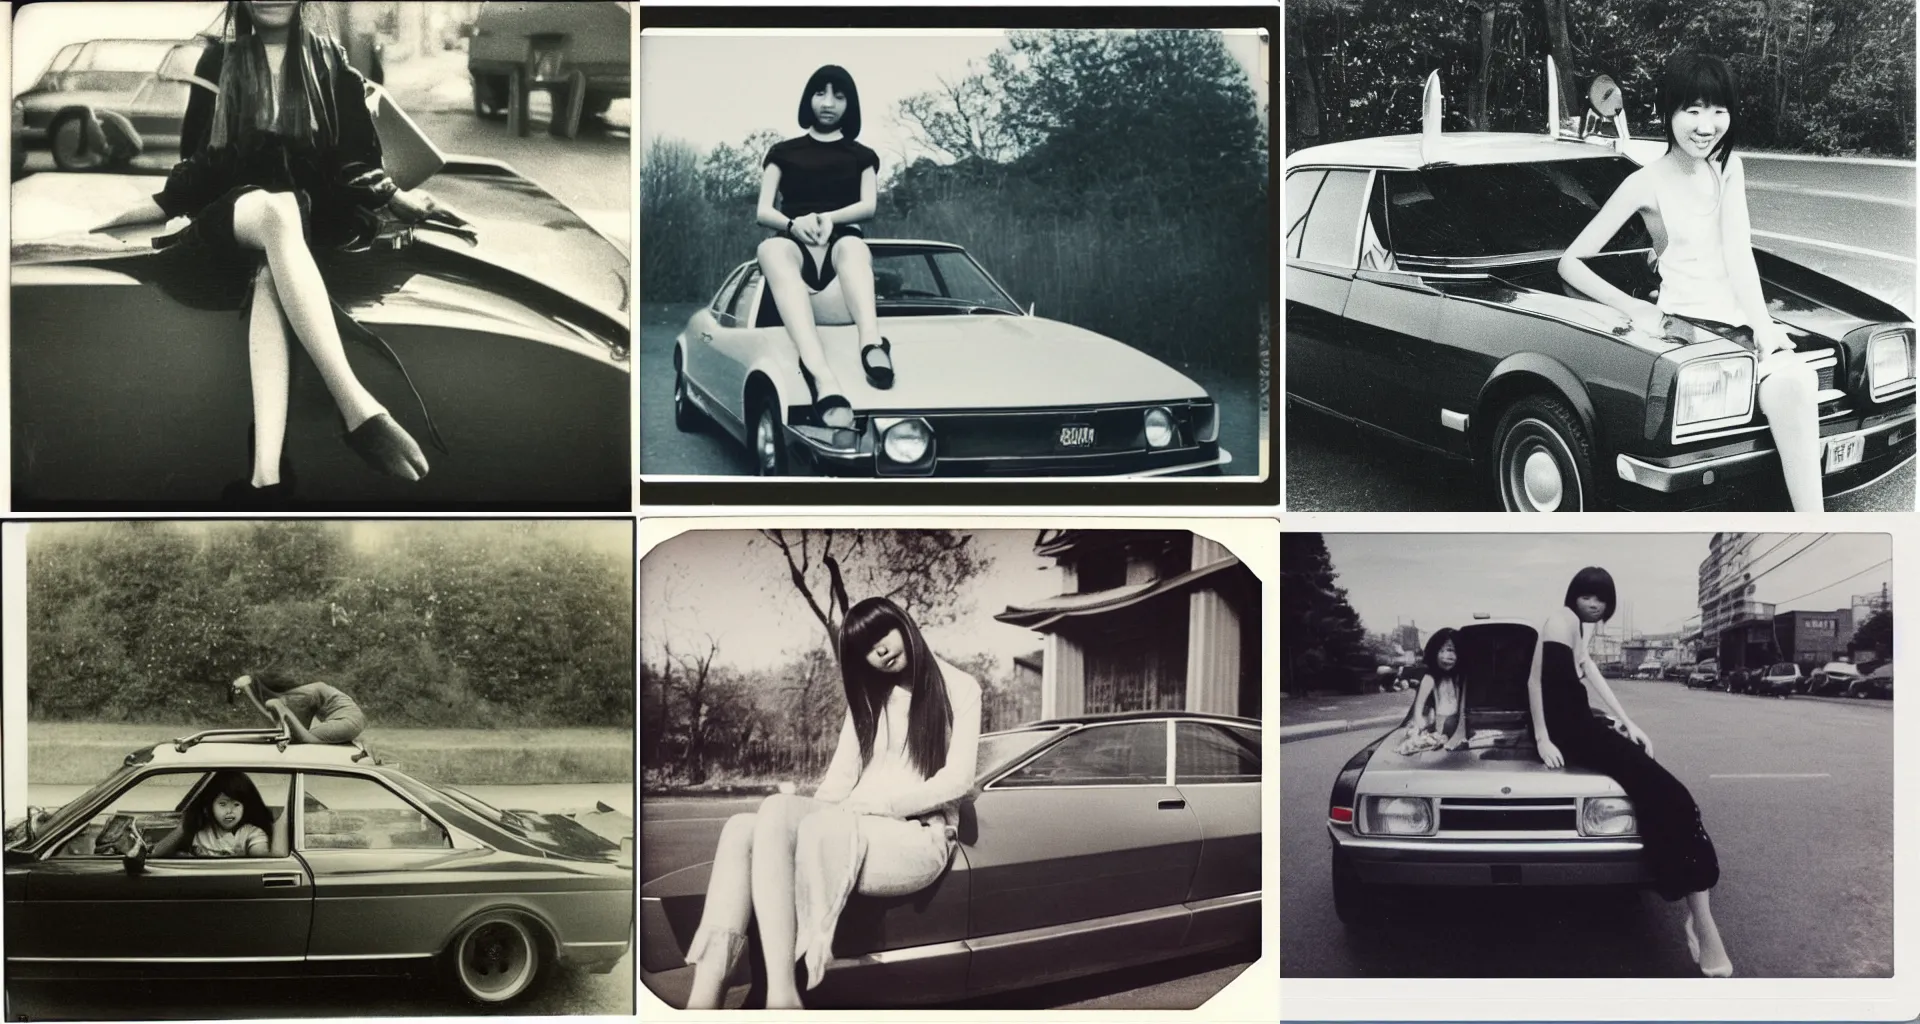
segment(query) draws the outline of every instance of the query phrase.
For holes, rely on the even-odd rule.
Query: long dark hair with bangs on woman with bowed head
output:
[[[866,663],[866,653],[883,636],[900,630],[906,642],[906,667],[895,676]],[[947,765],[947,738],[952,736],[954,709],[947,699],[947,678],[933,663],[920,626],[885,597],[868,597],[847,609],[839,640],[841,678],[847,684],[847,709],[852,713],[852,732],[860,738],[860,765],[874,761],[874,732],[887,692],[900,676],[914,692],[906,707],[906,757],[922,778]]]

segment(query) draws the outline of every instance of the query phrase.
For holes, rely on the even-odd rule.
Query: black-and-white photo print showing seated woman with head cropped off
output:
[[[12,507],[630,511],[630,4],[12,21]]]

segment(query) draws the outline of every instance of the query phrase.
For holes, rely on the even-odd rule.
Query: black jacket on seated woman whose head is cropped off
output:
[[[311,204],[309,238],[315,244],[336,244],[353,234],[363,211],[378,209],[394,198],[397,186],[380,165],[380,136],[367,110],[367,79],[348,63],[346,48],[332,38],[305,37],[305,46],[307,61],[321,81],[313,144],[265,136],[213,150],[207,140],[215,96],[194,86],[180,123],[180,161],[167,175],[167,186],[154,194],[154,202],[169,217],[198,217],[242,184],[292,190]],[[223,42],[207,46],[194,75],[219,83],[225,54]]]

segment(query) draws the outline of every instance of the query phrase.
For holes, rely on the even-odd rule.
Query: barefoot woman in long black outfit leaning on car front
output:
[[[1707,891],[1720,880],[1720,861],[1688,788],[1653,761],[1653,742],[1626,717],[1607,678],[1588,653],[1592,630],[1613,619],[1613,576],[1586,567],[1567,584],[1563,607],[1540,626],[1534,667],[1526,676],[1534,747],[1548,768],[1574,765],[1611,776],[1634,805],[1653,890],[1661,899],[1686,899],[1686,945],[1709,978],[1730,978],[1734,963],[1720,943]],[[1594,694],[1626,734],[1594,715]]]

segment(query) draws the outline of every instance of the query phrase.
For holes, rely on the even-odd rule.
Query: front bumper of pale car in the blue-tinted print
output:
[[[801,465],[824,476],[876,478],[989,478],[989,476],[1075,476],[1075,478],[1150,478],[1183,475],[1215,475],[1233,463],[1233,453],[1217,444],[1179,448],[1171,451],[1121,451],[1098,455],[1033,455],[1006,459],[941,459],[935,450],[931,465],[895,469],[883,465],[872,442],[860,438],[854,448],[835,444],[835,430],[818,427],[787,427],[789,453]],[[845,434],[845,430],[841,430]]]

